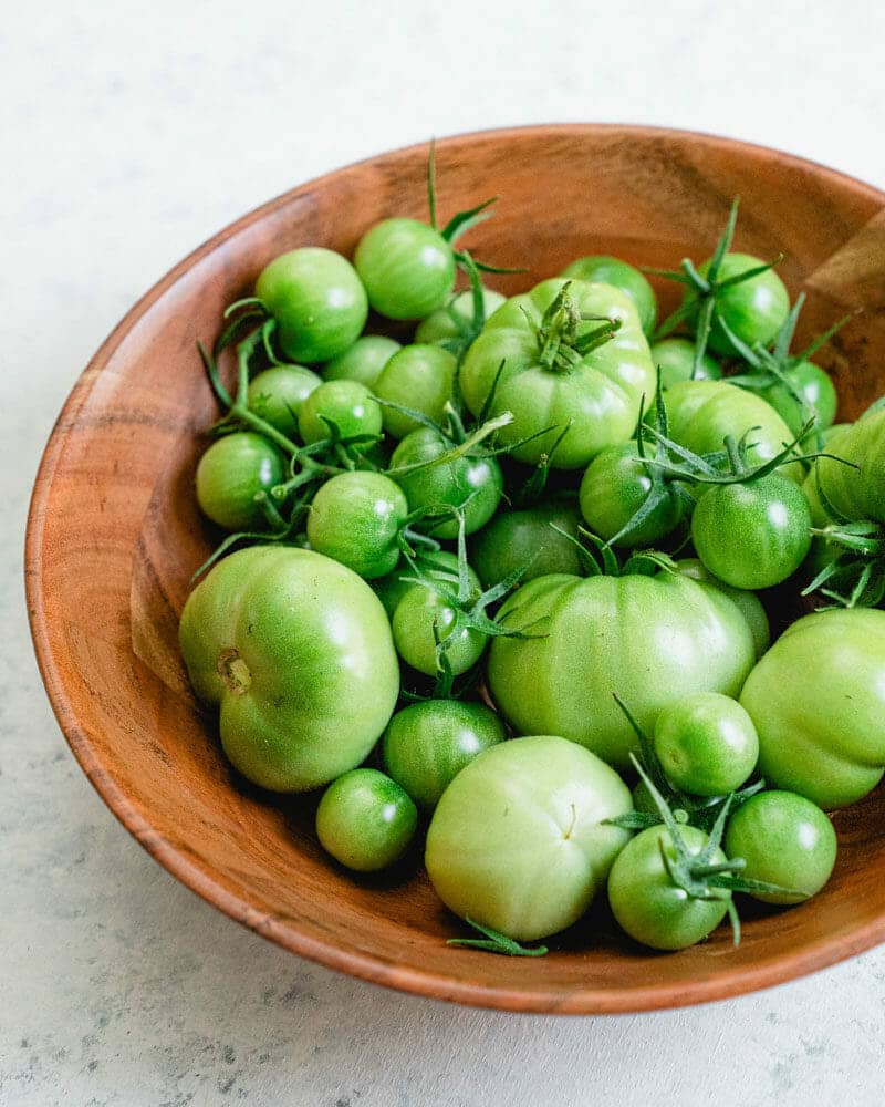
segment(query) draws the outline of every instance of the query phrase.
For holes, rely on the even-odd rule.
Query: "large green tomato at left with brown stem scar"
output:
[[[190,593],[179,625],[197,695],[233,766],[274,792],[355,768],[399,694],[391,624],[356,573],[312,550],[251,546]]]

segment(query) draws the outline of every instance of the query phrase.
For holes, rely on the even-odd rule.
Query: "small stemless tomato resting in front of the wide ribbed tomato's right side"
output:
[[[737,790],[759,757],[753,721],[736,700],[718,692],[665,707],[655,723],[654,745],[669,780],[694,796]]]

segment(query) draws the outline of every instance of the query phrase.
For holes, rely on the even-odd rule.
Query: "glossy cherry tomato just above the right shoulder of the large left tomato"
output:
[[[308,540],[366,580],[393,572],[397,537],[408,515],[399,485],[381,473],[340,473],[326,480],[308,514]]]

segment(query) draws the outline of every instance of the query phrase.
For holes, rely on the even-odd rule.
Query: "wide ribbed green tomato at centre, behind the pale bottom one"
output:
[[[579,742],[618,767],[636,736],[616,693],[650,733],[659,711],[695,692],[737,695],[754,660],[738,608],[676,572],[539,577],[499,612],[489,687],[518,732]]]

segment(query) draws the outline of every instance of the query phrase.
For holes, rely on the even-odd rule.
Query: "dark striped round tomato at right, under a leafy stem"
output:
[[[733,588],[771,588],[791,577],[811,549],[811,508],[781,476],[714,485],[691,516],[691,541],[710,572]]]

